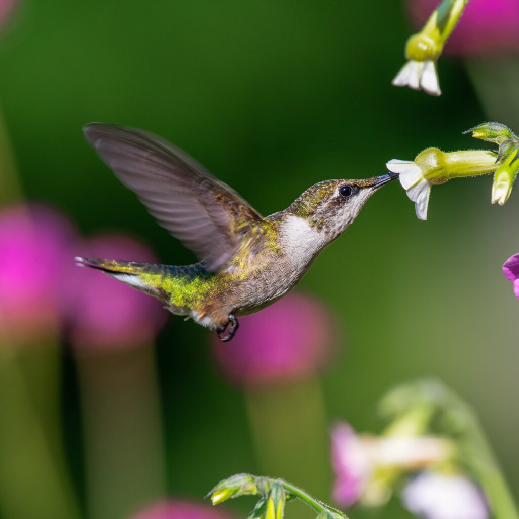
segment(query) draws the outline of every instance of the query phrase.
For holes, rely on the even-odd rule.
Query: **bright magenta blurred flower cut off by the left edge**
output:
[[[0,213],[0,321],[12,339],[56,331],[75,230],[44,206]]]

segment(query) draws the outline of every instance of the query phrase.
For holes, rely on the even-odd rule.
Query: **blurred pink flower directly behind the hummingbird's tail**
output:
[[[74,256],[154,262],[142,243],[106,234],[77,244]],[[72,256],[70,261],[73,262]],[[72,263],[73,264],[73,263]],[[151,340],[167,318],[160,303],[90,268],[70,269],[67,313],[73,343],[86,348],[125,348]]]

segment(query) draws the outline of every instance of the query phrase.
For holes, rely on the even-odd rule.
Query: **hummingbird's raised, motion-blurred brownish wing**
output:
[[[157,135],[94,122],[87,141],[158,223],[207,268],[234,256],[242,236],[262,216],[181,149]]]

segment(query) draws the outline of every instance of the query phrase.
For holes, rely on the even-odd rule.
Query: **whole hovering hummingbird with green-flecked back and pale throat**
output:
[[[216,331],[226,342],[238,317],[288,293],[381,186],[398,177],[325,180],[288,208],[263,217],[192,157],[147,131],[94,122],[89,144],[199,262],[162,265],[76,257],[159,299],[174,315]]]

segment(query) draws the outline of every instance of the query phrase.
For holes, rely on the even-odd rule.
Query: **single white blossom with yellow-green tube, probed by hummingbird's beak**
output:
[[[496,159],[497,154],[483,150],[445,153],[438,148],[428,148],[413,161],[392,159],[386,167],[399,173],[400,184],[409,199],[415,202],[416,216],[427,220],[432,186],[450,179],[491,173],[499,167]]]

